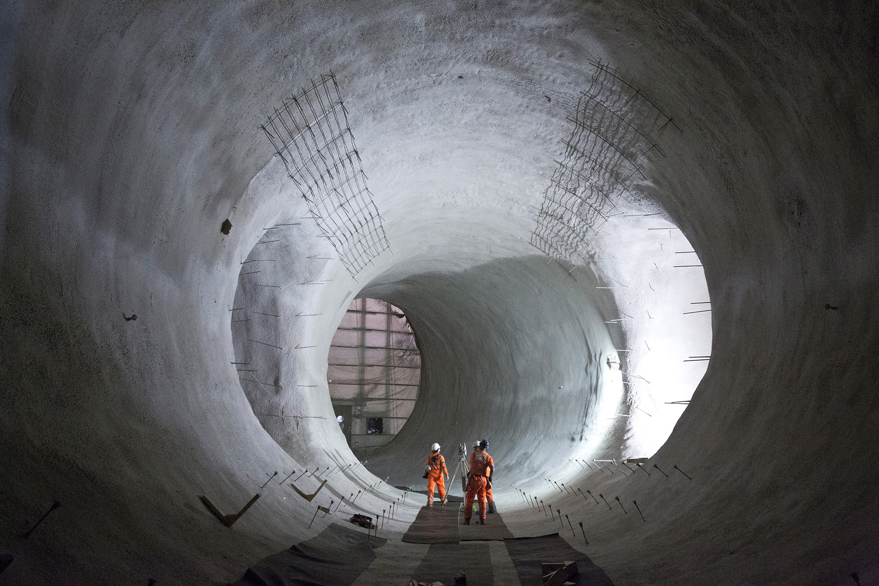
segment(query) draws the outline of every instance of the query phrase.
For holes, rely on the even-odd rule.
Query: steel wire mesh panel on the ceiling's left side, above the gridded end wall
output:
[[[261,127],[309,213],[356,277],[389,249],[336,77],[321,76],[285,100]]]

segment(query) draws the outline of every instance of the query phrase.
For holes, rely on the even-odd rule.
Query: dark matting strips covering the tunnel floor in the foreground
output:
[[[463,525],[462,506],[421,507],[404,533],[387,532],[383,537],[381,529],[369,536],[340,525],[345,521],[340,517],[316,537],[258,561],[233,586],[386,586],[412,581],[451,586],[461,575],[468,586],[530,586],[546,583],[543,564],[570,561],[577,562],[578,573],[559,584],[613,586],[588,555],[561,537],[560,530],[547,526],[538,529],[546,531],[541,535],[516,536],[499,512],[490,514],[485,525]]]

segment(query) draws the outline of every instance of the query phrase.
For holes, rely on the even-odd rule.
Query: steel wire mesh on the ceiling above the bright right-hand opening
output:
[[[563,141],[562,161],[544,193],[531,244],[549,257],[587,263],[592,239],[607,222],[615,200],[650,163],[665,156],[657,141],[672,119],[640,90],[602,63],[592,63],[592,83],[578,98],[574,128]]]

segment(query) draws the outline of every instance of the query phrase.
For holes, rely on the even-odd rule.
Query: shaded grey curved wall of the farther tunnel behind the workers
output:
[[[601,402],[615,408],[620,389],[605,388],[604,360],[614,340],[604,323],[613,298],[592,271],[576,277],[547,257],[502,258],[456,272],[425,272],[361,294],[402,307],[422,353],[418,402],[397,437],[367,468],[397,485],[424,484],[430,445],[490,440],[505,484],[534,477],[582,449],[619,444],[605,435]],[[611,423],[613,425],[613,423]]]

